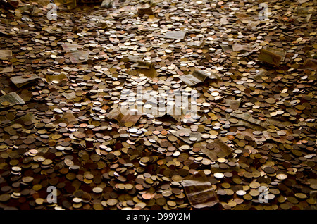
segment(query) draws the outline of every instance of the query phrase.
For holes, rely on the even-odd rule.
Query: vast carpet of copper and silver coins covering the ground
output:
[[[1,209],[193,209],[182,181],[197,171],[212,209],[316,209],[316,3],[267,2],[266,20],[261,1],[113,1],[56,20],[33,4],[0,9],[0,97],[25,102],[1,101]],[[194,70],[218,78],[186,85]],[[151,109],[140,89],[170,106],[195,92],[197,114],[108,118]],[[216,140],[230,155],[207,156]]]

